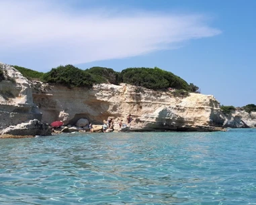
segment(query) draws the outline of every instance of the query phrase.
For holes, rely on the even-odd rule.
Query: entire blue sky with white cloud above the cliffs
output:
[[[0,62],[155,66],[221,105],[256,104],[256,1],[0,0]]]

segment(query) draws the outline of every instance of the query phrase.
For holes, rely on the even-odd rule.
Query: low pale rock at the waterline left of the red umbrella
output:
[[[41,123],[37,119],[31,120],[28,123],[21,123],[15,126],[10,126],[2,131],[0,131],[1,135],[51,135],[49,125]]]

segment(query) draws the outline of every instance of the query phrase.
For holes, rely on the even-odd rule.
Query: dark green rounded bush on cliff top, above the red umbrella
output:
[[[83,86],[91,88],[94,83],[101,83],[93,79],[93,76],[89,72],[76,68],[73,65],[52,68],[50,72],[43,74],[41,80],[43,82],[62,84],[69,88]]]

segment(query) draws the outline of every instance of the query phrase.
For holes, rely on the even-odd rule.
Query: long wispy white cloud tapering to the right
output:
[[[171,49],[221,32],[203,15],[76,12],[61,2],[0,0],[0,54],[35,58],[51,66],[81,64]]]

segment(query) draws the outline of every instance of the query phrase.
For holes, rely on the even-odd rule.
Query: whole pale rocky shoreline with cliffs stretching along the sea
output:
[[[51,135],[52,121],[63,121],[62,132],[88,132],[89,122],[98,132],[108,117],[115,122],[112,131],[225,131],[226,127],[256,126],[255,112],[233,111],[226,116],[212,95],[177,97],[169,90],[129,84],[70,89],[29,81],[7,64],[0,67],[7,76],[0,81],[0,138]],[[120,129],[118,123],[126,123],[129,114],[134,120]],[[74,127],[79,119],[88,121],[82,129]]]

